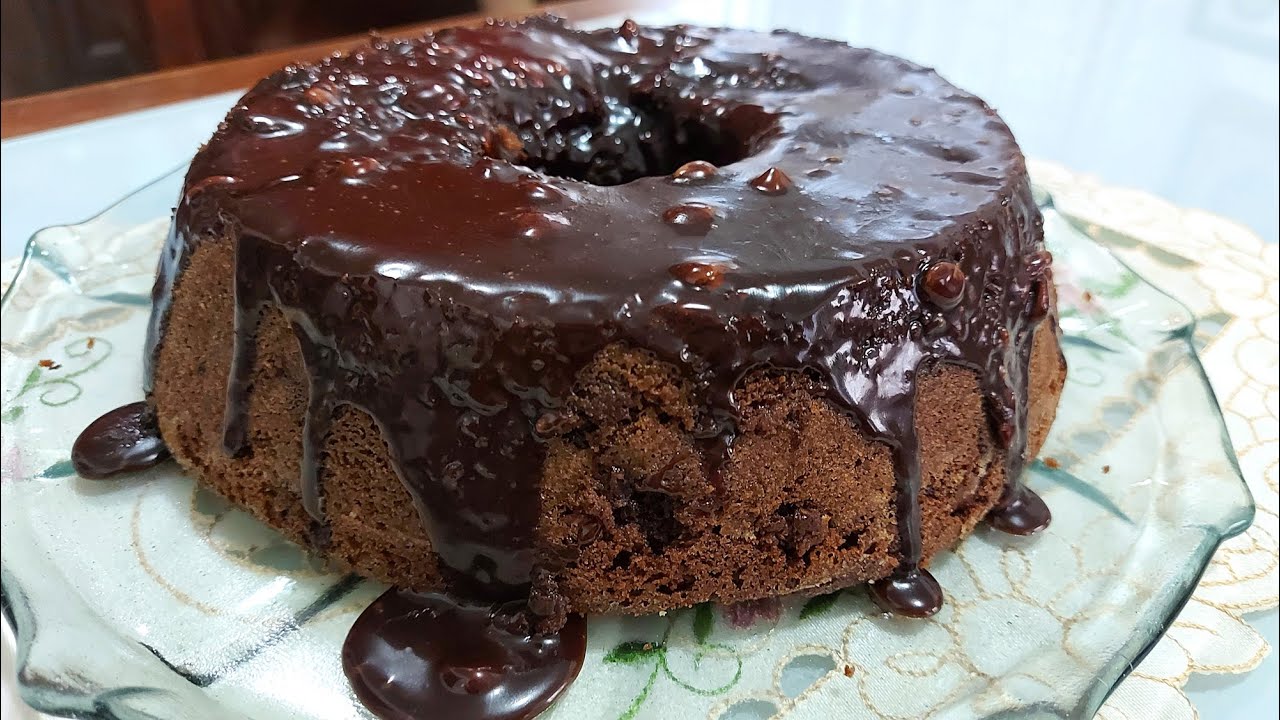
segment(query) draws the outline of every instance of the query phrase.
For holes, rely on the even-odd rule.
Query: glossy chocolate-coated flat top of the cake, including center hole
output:
[[[905,60],[535,18],[270,76],[197,156],[188,201],[320,272],[563,320],[809,304],[874,260],[909,263],[1021,167],[982,100]]]

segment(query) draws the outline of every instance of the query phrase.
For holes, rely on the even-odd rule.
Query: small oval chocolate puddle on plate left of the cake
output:
[[[145,470],[168,457],[155,413],[146,402],[106,413],[90,423],[72,445],[72,466],[91,480]]]

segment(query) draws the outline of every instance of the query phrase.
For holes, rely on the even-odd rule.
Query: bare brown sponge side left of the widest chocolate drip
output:
[[[435,555],[372,419],[339,410],[323,471],[330,527],[319,528],[300,493],[307,375],[298,341],[269,309],[257,333],[248,451],[223,450],[233,336],[234,243],[201,242],[179,278],[157,359],[152,402],[160,430],[184,469],[294,542],[323,544],[342,566],[429,589]]]

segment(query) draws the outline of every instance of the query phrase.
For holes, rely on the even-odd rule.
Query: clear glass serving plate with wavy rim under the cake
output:
[[[22,697],[77,717],[361,717],[339,646],[381,585],[324,565],[170,464],[76,477],[91,419],[142,397],[159,243],[182,170],[37,233],[4,295],[3,593]],[[947,605],[810,600],[590,619],[547,717],[1088,717],[1172,621],[1253,502],[1192,315],[1041,193],[1070,375],[1028,482],[1034,538],[979,529]],[[1212,332],[1213,328],[1208,328]]]

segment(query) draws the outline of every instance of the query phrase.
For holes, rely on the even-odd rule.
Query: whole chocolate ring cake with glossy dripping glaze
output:
[[[923,570],[1065,378],[980,99],[787,32],[535,18],[257,83],[196,155],[148,397],[198,480],[364,575],[643,614]]]

